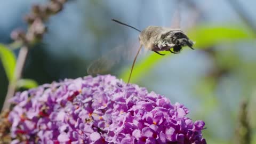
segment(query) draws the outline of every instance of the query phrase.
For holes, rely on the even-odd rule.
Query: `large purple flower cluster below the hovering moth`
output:
[[[13,144],[206,143],[186,107],[110,75],[44,84],[11,102]]]

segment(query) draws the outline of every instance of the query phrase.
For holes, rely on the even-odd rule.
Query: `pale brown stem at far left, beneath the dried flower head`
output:
[[[14,80],[9,83],[7,94],[4,100],[4,105],[2,107],[2,111],[8,109],[10,107],[10,103],[8,100],[13,97],[16,89],[17,82],[21,78],[22,69],[25,65],[25,61],[28,55],[28,47],[22,46],[18,55],[17,64],[14,71]]]

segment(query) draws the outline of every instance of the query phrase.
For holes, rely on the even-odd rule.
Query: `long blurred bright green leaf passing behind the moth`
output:
[[[196,42],[196,49],[205,49],[209,46],[222,42],[236,42],[242,39],[252,39],[253,35],[249,31],[240,26],[199,26],[188,31],[188,37]],[[164,57],[158,54],[151,54],[142,61],[135,64],[131,82],[138,82],[147,71],[150,71],[159,61],[172,54],[166,54]],[[127,82],[130,74],[130,67],[125,68],[124,72],[119,76]]]

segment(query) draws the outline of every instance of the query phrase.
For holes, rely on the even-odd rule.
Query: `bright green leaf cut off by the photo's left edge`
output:
[[[3,44],[0,44],[0,59],[9,81],[13,81],[16,58],[14,53]]]

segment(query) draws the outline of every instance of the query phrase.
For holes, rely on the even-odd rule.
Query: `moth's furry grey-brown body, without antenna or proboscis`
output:
[[[171,51],[173,48],[174,53],[179,53],[183,46],[193,49],[194,44],[182,30],[158,26],[143,29],[139,41],[146,49],[154,52]]]

